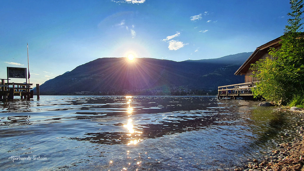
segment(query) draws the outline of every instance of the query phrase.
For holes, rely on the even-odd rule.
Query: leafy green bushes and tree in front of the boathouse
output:
[[[251,65],[260,82],[253,88],[254,96],[263,96],[266,100],[288,102],[293,94],[304,94],[304,33],[302,10],[303,0],[291,0],[292,12],[288,13],[289,26],[285,26],[284,35],[280,38],[280,49],[271,48],[267,58]],[[301,95],[302,96],[302,95]]]

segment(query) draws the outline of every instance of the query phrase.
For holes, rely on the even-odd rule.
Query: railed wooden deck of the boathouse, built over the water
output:
[[[218,87],[218,98],[237,99],[254,99],[251,88],[254,87],[256,82],[245,82],[240,84],[224,85]]]

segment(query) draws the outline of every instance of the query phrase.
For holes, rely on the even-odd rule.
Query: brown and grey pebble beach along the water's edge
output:
[[[291,135],[293,141],[281,143],[277,145],[267,155],[259,159],[247,159],[247,164],[243,167],[237,167],[236,171],[304,171],[304,110],[291,110],[288,108],[279,108],[281,111],[290,111],[292,114],[298,115],[300,120],[295,123],[295,134]],[[290,136],[288,132],[285,136]],[[283,136],[281,138],[284,138]]]

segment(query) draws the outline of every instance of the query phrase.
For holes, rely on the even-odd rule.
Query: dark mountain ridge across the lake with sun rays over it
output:
[[[244,82],[234,72],[252,54],[240,53],[216,59],[169,61],[153,58],[98,58],[40,85],[40,94],[109,92],[168,89],[216,89],[220,85]]]

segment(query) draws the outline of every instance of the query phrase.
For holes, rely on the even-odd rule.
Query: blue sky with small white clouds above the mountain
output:
[[[27,67],[26,43],[34,84],[97,58],[250,52],[282,35],[289,7],[288,0],[2,1],[0,78],[7,66]]]

